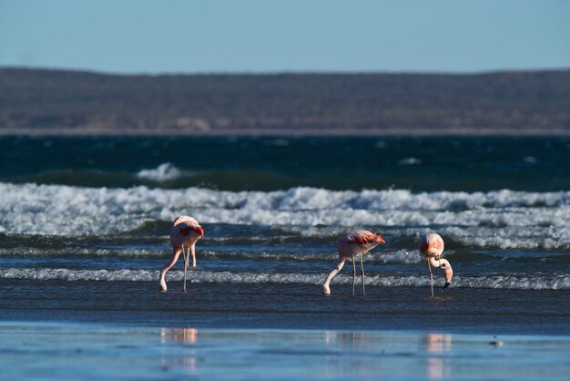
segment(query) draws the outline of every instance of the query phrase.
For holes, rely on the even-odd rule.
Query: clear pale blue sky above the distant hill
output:
[[[116,73],[570,67],[570,0],[0,0],[0,66]]]

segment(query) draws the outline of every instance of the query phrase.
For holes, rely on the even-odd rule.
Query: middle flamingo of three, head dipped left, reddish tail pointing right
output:
[[[368,231],[352,231],[344,234],[341,239],[339,240],[338,248],[339,248],[339,263],[337,263],[336,267],[332,269],[331,273],[327,276],[322,283],[322,294],[323,295],[330,295],[331,288],[329,287],[329,283],[331,283],[331,279],[339,273],[344,266],[344,263],[347,259],[352,259],[352,295],[354,295],[354,285],[356,283],[356,264],[355,264],[355,257],[361,258],[361,278],[362,278],[362,293],[366,295],[366,290],[364,289],[364,266],[362,265],[362,255],[367,252],[370,252],[373,248],[378,246],[381,243],[386,243],[382,240],[382,236],[380,234],[374,234],[373,232]]]

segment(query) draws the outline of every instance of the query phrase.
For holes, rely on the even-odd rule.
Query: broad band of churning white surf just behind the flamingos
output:
[[[469,247],[570,248],[570,191],[421,192],[293,188],[220,191],[80,188],[0,183],[6,234],[106,235],[190,214],[201,223],[281,226],[305,236],[320,227],[437,229]],[[394,231],[395,232],[395,231]],[[165,233],[166,234],[166,233]]]

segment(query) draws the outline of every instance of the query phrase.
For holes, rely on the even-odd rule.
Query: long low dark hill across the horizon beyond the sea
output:
[[[570,134],[570,70],[118,76],[0,68],[0,134]]]

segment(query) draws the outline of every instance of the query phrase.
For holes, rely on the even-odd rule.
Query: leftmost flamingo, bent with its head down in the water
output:
[[[160,271],[160,287],[167,291],[166,275],[168,270],[178,261],[180,252],[184,255],[184,291],[186,291],[186,272],[190,253],[192,254],[192,268],[196,268],[196,242],[204,236],[204,229],[198,221],[189,216],[180,216],[174,221],[170,230],[170,242],[172,242],[172,258]],[[188,249],[188,253],[184,249]]]

